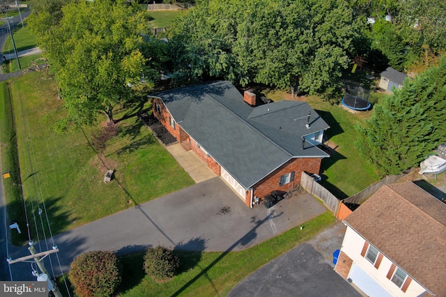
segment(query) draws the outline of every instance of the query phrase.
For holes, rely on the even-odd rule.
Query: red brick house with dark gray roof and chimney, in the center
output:
[[[238,193],[247,206],[272,190],[288,191],[302,171],[319,173],[329,155],[321,144],[328,124],[306,102],[254,107],[231,82],[209,82],[157,93],[153,114],[186,150]]]

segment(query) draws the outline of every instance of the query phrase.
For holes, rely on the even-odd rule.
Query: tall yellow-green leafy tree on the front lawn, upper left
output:
[[[63,2],[63,0],[58,0]],[[49,22],[48,16],[59,15]],[[147,15],[124,0],[70,1],[57,10],[38,10],[32,17],[38,43],[56,76],[70,119],[91,125],[103,112],[113,121],[116,105],[132,98],[129,86],[151,83],[143,36]],[[31,17],[31,18],[32,18]]]

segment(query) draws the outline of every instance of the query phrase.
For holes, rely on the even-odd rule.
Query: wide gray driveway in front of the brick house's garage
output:
[[[308,194],[284,199],[272,208],[263,204],[248,208],[220,177],[215,177],[84,224],[55,236],[54,241],[60,249],[62,271],[67,272],[72,259],[91,250],[126,253],[157,244],[183,250],[244,250],[325,211]],[[20,248],[10,253],[10,257],[28,254],[26,248]],[[57,263],[53,255],[45,258],[45,264],[49,258],[53,264]],[[53,266],[55,273],[60,274],[58,266]],[[16,280],[23,279],[22,271],[30,270],[29,264],[13,264],[11,269],[19,277],[14,277]],[[29,276],[32,280],[31,273]]]

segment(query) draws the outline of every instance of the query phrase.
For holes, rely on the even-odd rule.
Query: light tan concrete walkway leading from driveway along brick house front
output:
[[[201,183],[201,181],[207,181],[209,178],[217,176],[192,150],[185,151],[181,144],[171,144],[166,146],[166,149],[195,183]]]

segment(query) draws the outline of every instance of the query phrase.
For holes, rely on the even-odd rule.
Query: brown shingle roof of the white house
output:
[[[410,181],[385,185],[344,222],[436,296],[446,296],[446,204]]]

